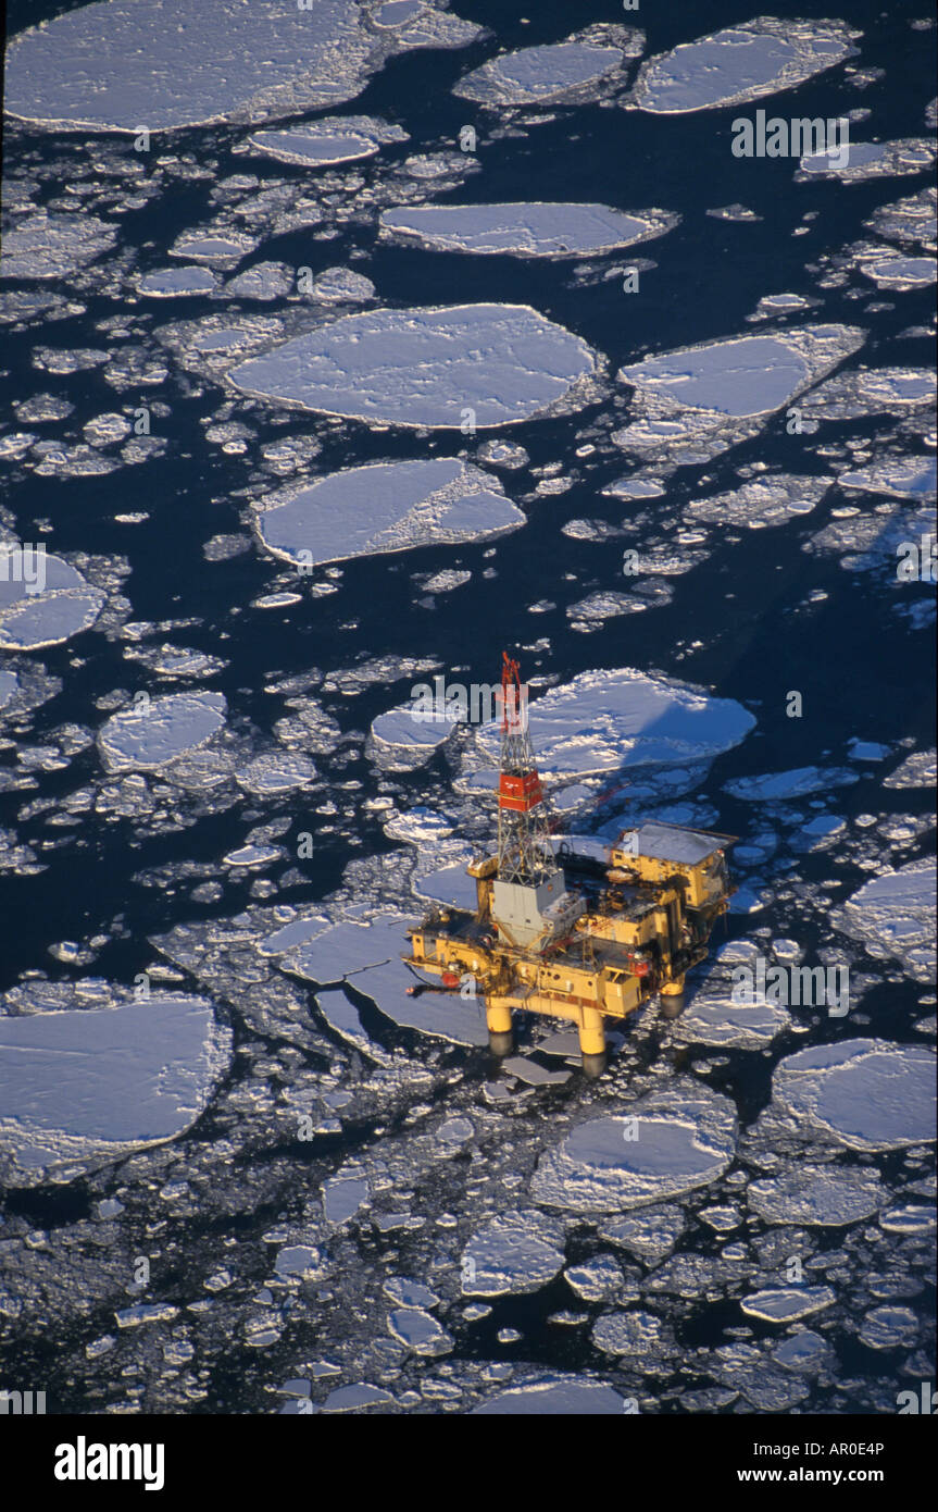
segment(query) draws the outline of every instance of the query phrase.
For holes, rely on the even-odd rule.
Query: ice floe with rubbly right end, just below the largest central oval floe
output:
[[[524,525],[501,482],[459,458],[373,463],[267,494],[261,546],[298,565],[488,540]]]

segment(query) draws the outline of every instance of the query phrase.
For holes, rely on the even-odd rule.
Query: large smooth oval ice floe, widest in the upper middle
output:
[[[524,304],[372,310],[231,369],[245,393],[384,425],[514,425],[588,402],[597,354]]]

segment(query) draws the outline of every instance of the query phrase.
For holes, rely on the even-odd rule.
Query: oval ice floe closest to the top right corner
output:
[[[760,100],[834,68],[855,51],[856,36],[843,21],[760,15],[650,57],[630,100],[654,115]]]

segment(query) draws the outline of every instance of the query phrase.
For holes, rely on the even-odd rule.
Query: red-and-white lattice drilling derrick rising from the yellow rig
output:
[[[536,888],[556,871],[547,806],[527,732],[527,689],[518,662],[501,653],[501,774],[498,777],[498,881]]]

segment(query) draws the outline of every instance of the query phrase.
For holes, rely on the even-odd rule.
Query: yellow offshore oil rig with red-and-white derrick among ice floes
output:
[[[577,1025],[583,1070],[598,1077],[606,1019],[656,993],[668,1018],[680,1013],[684,977],[734,892],[725,850],[736,836],[646,823],[598,856],[554,847],[518,662],[501,659],[497,854],[467,866],[476,910],[432,910],[408,930],[403,960],[441,978],[411,992],[459,993],[473,978],[495,1055],[514,1048],[515,1010],[544,1013]]]

